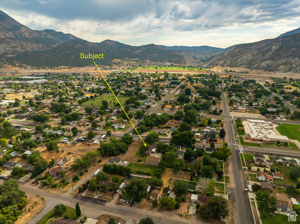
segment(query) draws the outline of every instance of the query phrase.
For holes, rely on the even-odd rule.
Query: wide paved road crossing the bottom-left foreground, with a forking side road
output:
[[[0,180],[0,184],[3,183],[3,180]],[[147,216],[151,217],[154,223],[172,223],[172,224],[190,224],[191,221],[197,223],[203,223],[196,221],[193,217],[192,220],[185,220],[171,211],[162,212],[162,213],[152,213],[152,211],[146,211],[145,209],[136,208],[135,206],[130,207],[129,205],[115,205],[105,203],[103,200],[94,199],[85,196],[75,196],[70,197],[66,195],[52,194],[46,191],[39,190],[37,188],[32,188],[24,185],[23,182],[19,183],[19,189],[28,193],[37,194],[48,199],[46,208],[41,211],[29,224],[35,224],[40,220],[44,215],[46,215],[50,210],[54,208],[55,205],[63,203],[65,205],[75,208],[76,202],[79,203],[82,215],[90,218],[97,218],[101,214],[114,214],[119,217],[122,217],[126,220],[134,219],[134,222],[138,223],[140,219]]]

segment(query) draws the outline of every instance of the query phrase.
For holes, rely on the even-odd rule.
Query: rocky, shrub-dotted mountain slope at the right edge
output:
[[[239,44],[205,65],[300,72],[299,40],[300,33],[296,33],[255,43]]]

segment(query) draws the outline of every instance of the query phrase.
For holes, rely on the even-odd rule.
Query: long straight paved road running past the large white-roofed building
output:
[[[224,113],[225,116],[229,116],[229,112],[227,111],[226,106],[226,98],[224,95],[224,88],[223,85],[221,85],[221,91],[222,91],[222,98],[223,98],[223,107],[224,107]],[[253,214],[251,210],[251,205],[249,201],[249,197],[247,193],[244,191],[244,180],[241,179],[241,173],[243,171],[243,168],[241,166],[240,161],[240,148],[238,144],[235,142],[235,129],[232,126],[232,118],[224,118],[224,124],[226,124],[228,131],[226,133],[226,138],[228,138],[229,147],[231,147],[232,151],[232,171],[234,175],[234,182],[235,182],[235,189],[228,189],[229,199],[233,200],[238,209],[238,223],[243,224],[254,224],[253,220]]]

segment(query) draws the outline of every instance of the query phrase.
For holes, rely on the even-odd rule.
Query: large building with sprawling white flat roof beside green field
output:
[[[275,143],[277,140],[283,144],[285,141],[289,142],[289,138],[285,135],[277,135],[273,131],[277,125],[272,122],[261,120],[247,119],[243,121],[245,135],[251,140]]]

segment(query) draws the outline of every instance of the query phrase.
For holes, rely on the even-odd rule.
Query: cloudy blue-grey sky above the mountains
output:
[[[1,0],[0,9],[34,30],[135,46],[227,48],[300,27],[298,0]]]

